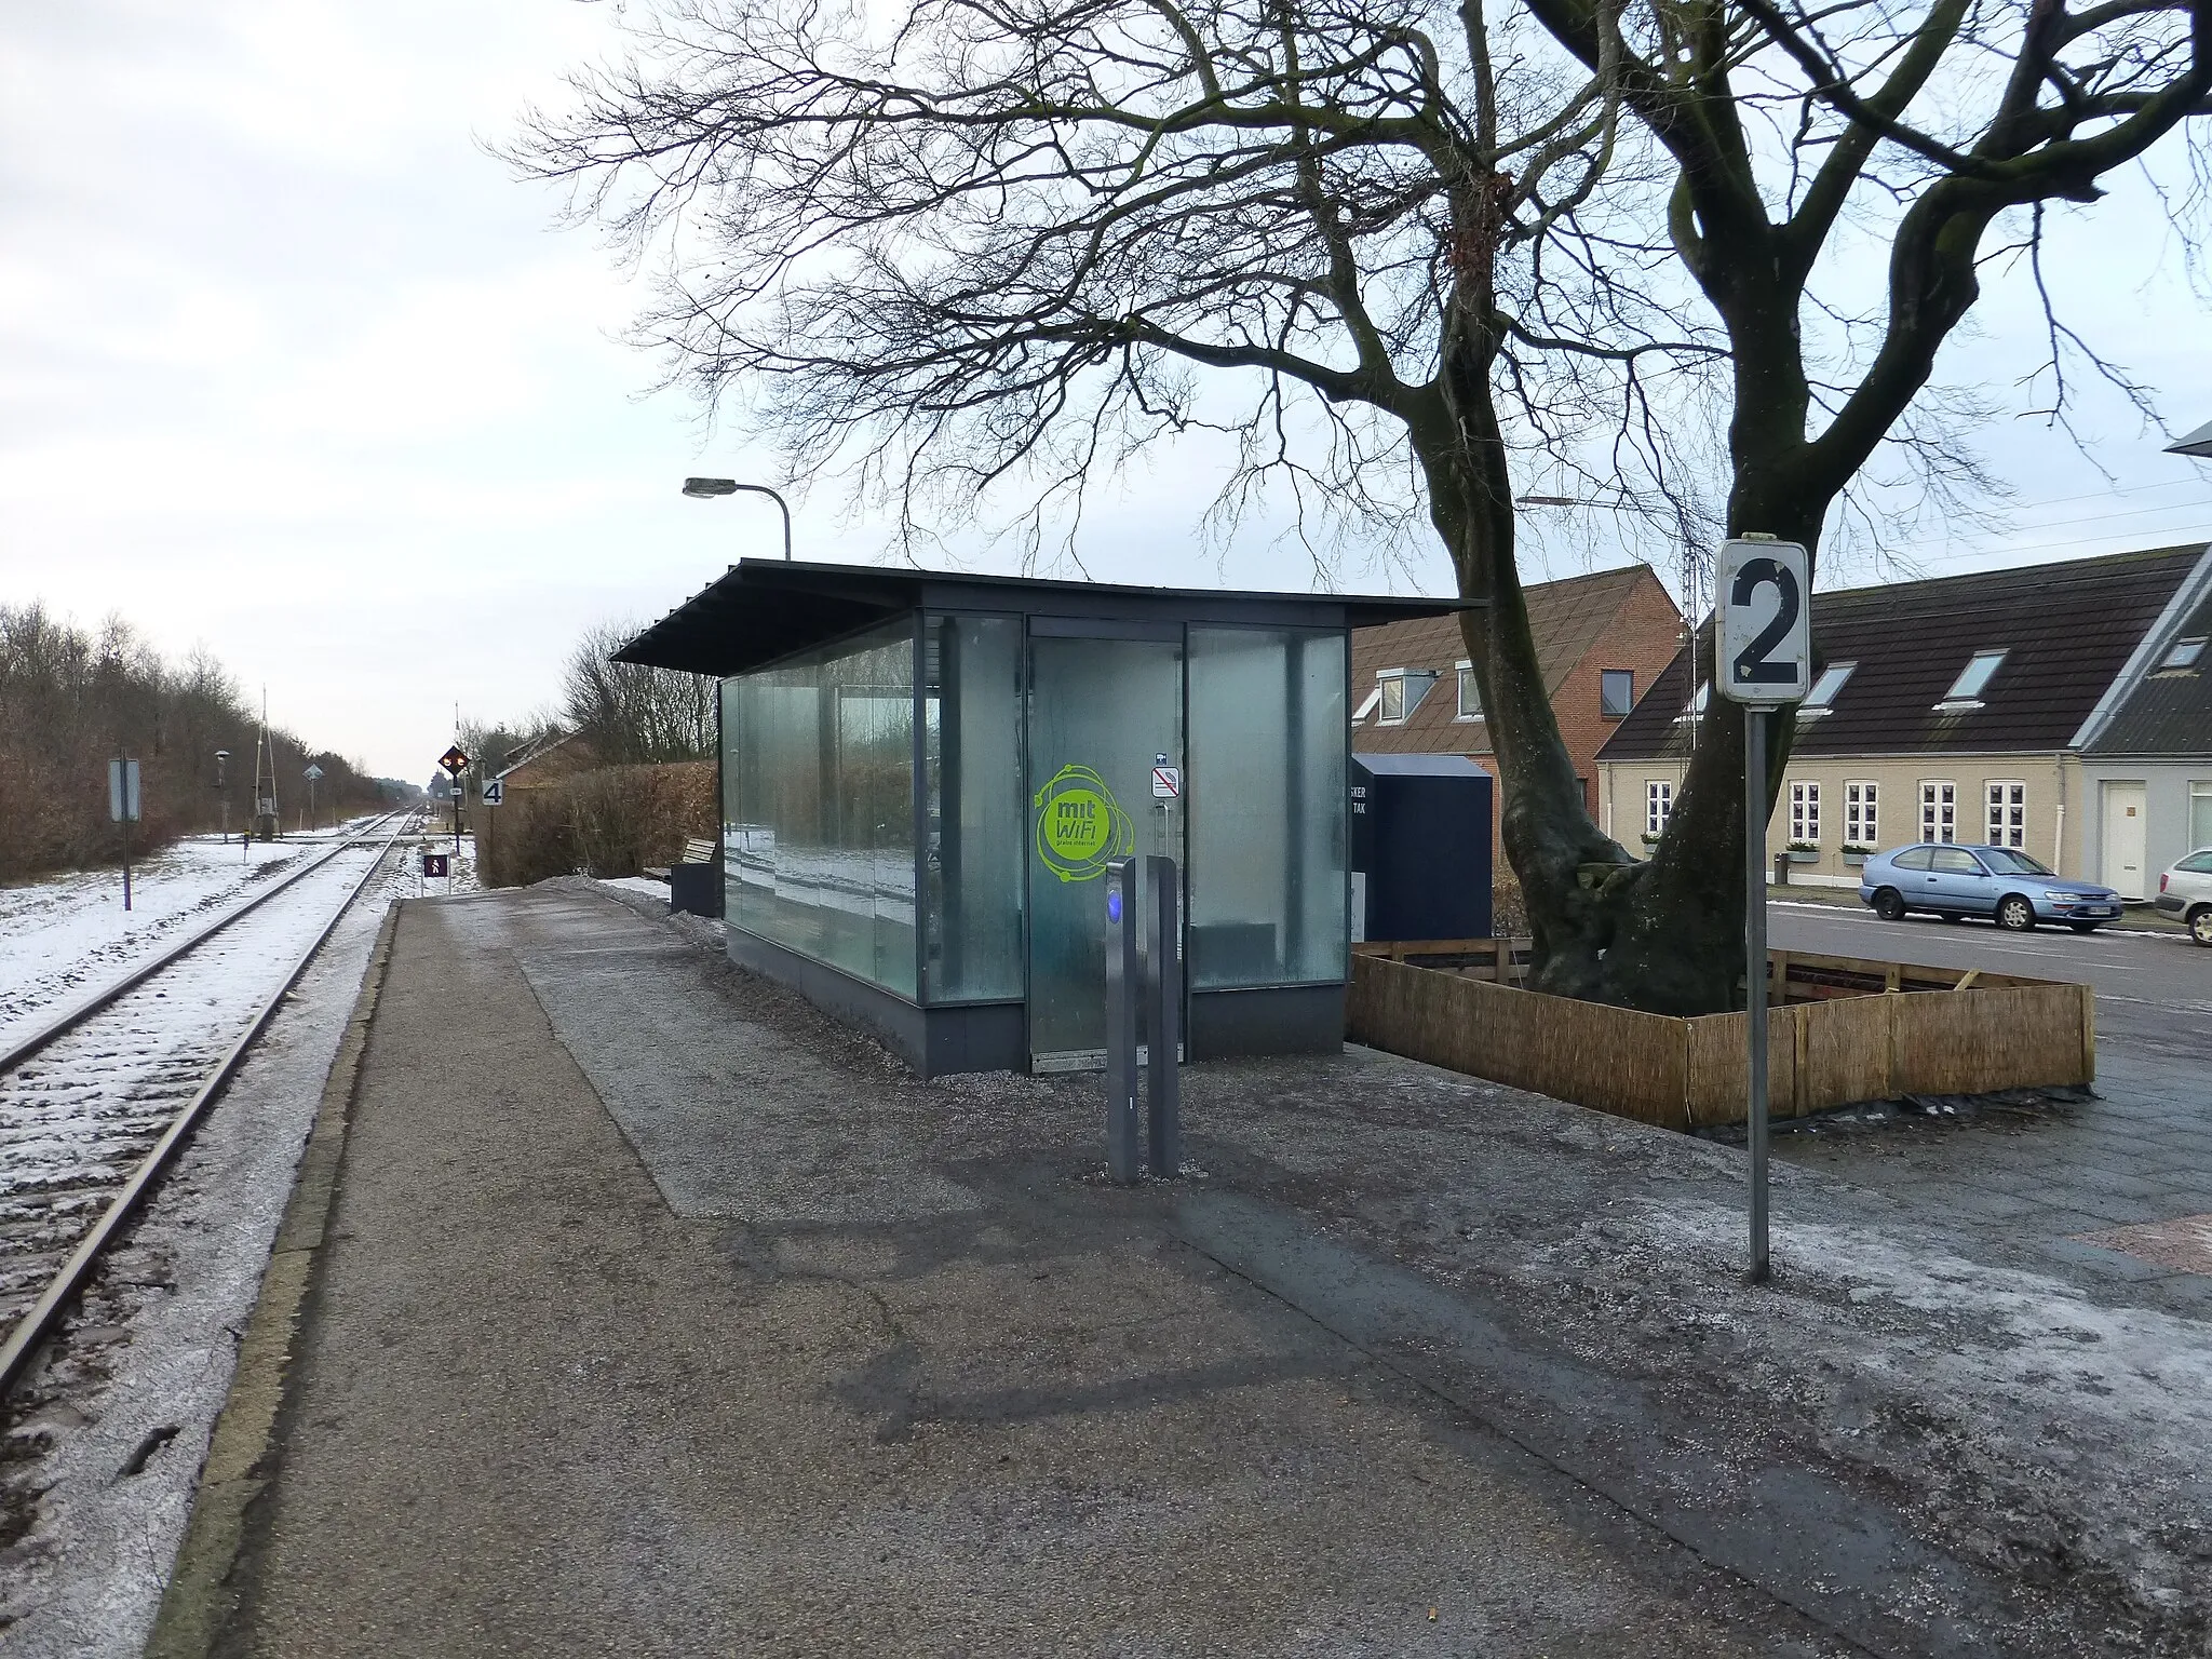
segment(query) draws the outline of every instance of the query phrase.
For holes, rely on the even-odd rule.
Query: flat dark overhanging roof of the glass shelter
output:
[[[876,564],[743,560],[615,653],[615,661],[741,675],[916,608],[1108,622],[1252,622],[1365,628],[1469,608],[1467,599],[1237,593],[960,575]]]

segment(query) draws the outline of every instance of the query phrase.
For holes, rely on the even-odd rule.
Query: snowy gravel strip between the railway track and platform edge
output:
[[[91,1387],[22,1425],[51,1440],[51,1486],[29,1535],[0,1551],[9,1655],[144,1650],[323,1077],[383,911],[414,880],[394,865],[354,902],[71,1316],[60,1363]]]

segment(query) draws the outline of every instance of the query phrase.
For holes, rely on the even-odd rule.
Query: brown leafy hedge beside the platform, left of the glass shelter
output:
[[[714,763],[606,765],[478,807],[480,878],[529,887],[549,876],[637,876],[672,865],[690,836],[714,836]]]

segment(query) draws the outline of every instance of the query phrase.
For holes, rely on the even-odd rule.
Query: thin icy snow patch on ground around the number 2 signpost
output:
[[[1969,1553],[2104,1573],[2161,1613],[2208,1582],[2212,1325],[2101,1305],[1909,1225],[1776,1217],[1774,1285],[1750,1287],[1743,1225],[1734,1203],[1621,1201],[1553,1254],[1579,1259],[1601,1305],[1703,1285],[1683,1318],[1741,1345],[1745,1387],[1796,1378],[1825,1451],[1927,1489]]]

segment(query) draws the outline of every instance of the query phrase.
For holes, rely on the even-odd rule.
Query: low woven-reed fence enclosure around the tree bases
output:
[[[1741,1013],[1677,1020],[1517,989],[1526,940],[1356,945],[1352,1042],[1661,1128],[1741,1124]],[[1893,1095],[2097,1075],[2090,989],[1834,956],[1770,956],[1774,1117]]]

